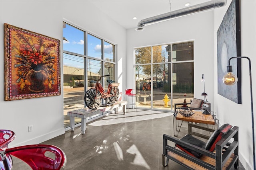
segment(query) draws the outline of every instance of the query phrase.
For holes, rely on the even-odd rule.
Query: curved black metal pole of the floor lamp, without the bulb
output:
[[[250,92],[251,92],[251,109],[252,109],[252,141],[253,141],[253,167],[255,170],[255,142],[254,142],[254,115],[253,115],[253,100],[252,100],[252,69],[251,69],[251,60],[249,57],[231,57],[228,60],[228,65],[230,66],[231,59],[248,59],[249,61],[249,75],[250,75]]]

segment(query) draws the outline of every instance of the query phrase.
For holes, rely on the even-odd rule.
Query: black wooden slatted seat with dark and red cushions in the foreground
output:
[[[201,129],[200,126],[198,129]],[[171,143],[175,143],[175,146],[170,146]],[[191,170],[228,170],[233,165],[237,169],[239,162],[238,127],[222,125],[212,133],[207,143],[189,134],[182,139],[164,134],[163,166],[168,165],[169,159]]]

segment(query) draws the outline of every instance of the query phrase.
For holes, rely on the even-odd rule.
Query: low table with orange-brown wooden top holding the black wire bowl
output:
[[[211,114],[205,115],[202,113],[202,111],[196,111],[196,110],[193,110],[193,112],[194,112],[194,115],[192,115],[190,117],[185,117],[185,116],[181,115],[180,113],[177,113],[176,115],[174,115],[174,117],[176,120],[182,120],[182,121],[188,121],[188,122],[194,122],[194,123],[204,123],[204,124],[210,124],[210,125],[215,124],[215,120]],[[174,133],[174,117],[173,117],[173,133]],[[181,126],[182,126],[182,123],[181,123],[180,127]],[[177,129],[176,129],[176,131],[177,131]],[[178,132],[179,131],[180,131],[180,129],[178,130]],[[174,133],[174,136],[178,136],[178,135],[175,135],[175,133]]]

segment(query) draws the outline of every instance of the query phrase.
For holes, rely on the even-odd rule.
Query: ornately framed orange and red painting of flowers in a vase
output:
[[[60,95],[60,40],[4,23],[4,100]]]

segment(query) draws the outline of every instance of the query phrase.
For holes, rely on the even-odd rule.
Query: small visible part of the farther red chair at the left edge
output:
[[[8,144],[15,138],[15,133],[10,130],[0,129],[0,151],[6,150]]]

